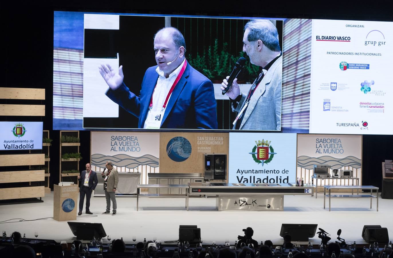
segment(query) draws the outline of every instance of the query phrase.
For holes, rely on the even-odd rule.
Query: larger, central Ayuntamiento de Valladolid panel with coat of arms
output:
[[[230,133],[230,183],[296,181],[296,134]]]

